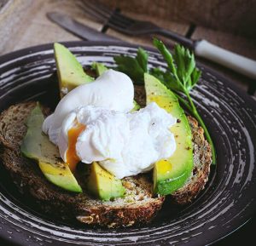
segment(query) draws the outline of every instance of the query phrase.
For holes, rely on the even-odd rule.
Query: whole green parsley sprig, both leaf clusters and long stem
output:
[[[166,48],[166,45],[160,40],[154,38],[153,43],[156,49],[160,51],[160,54],[162,54],[164,60],[166,60],[166,71],[159,67],[152,68],[149,71],[148,53],[141,48],[137,50],[137,56],[135,58],[124,55],[115,56],[114,60],[118,66],[117,69],[130,76],[134,83],[143,83],[144,72],[149,72],[154,77],[157,77],[161,83],[164,83],[168,89],[171,89],[172,92],[176,94],[178,100],[183,106],[186,106],[204,129],[206,138],[212,147],[212,164],[215,164],[216,153],[211,135],[200,114],[197,112],[195,104],[189,94],[189,91],[194,88],[201,77],[201,71],[195,66],[194,54],[181,45],[176,45],[173,54],[171,54]],[[183,93],[185,98],[179,93]]]

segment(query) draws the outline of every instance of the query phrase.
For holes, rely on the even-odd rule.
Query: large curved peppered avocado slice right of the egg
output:
[[[157,103],[166,112],[177,118],[177,123],[170,129],[175,136],[176,151],[172,157],[154,164],[154,192],[160,195],[172,194],[182,187],[192,173],[193,149],[189,122],[177,97],[160,81],[148,73],[144,74],[147,105]]]

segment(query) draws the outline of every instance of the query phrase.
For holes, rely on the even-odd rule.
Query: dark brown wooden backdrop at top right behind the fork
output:
[[[84,0],[85,1],[85,0]],[[100,0],[113,8],[147,14],[163,20],[194,23],[207,29],[256,37],[255,0]]]

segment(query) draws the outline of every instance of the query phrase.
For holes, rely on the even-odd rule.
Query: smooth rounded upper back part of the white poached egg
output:
[[[79,106],[102,106],[106,109],[129,112],[133,108],[134,88],[131,78],[123,72],[112,69],[97,77],[93,83],[86,83],[66,94],[47,117],[43,131],[49,140],[57,145],[57,138],[65,117]]]

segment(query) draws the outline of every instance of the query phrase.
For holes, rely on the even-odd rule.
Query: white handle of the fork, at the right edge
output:
[[[233,53],[227,49],[218,47],[207,40],[199,40],[195,43],[195,54],[212,60],[218,64],[229,67],[241,74],[256,79],[256,61]]]

